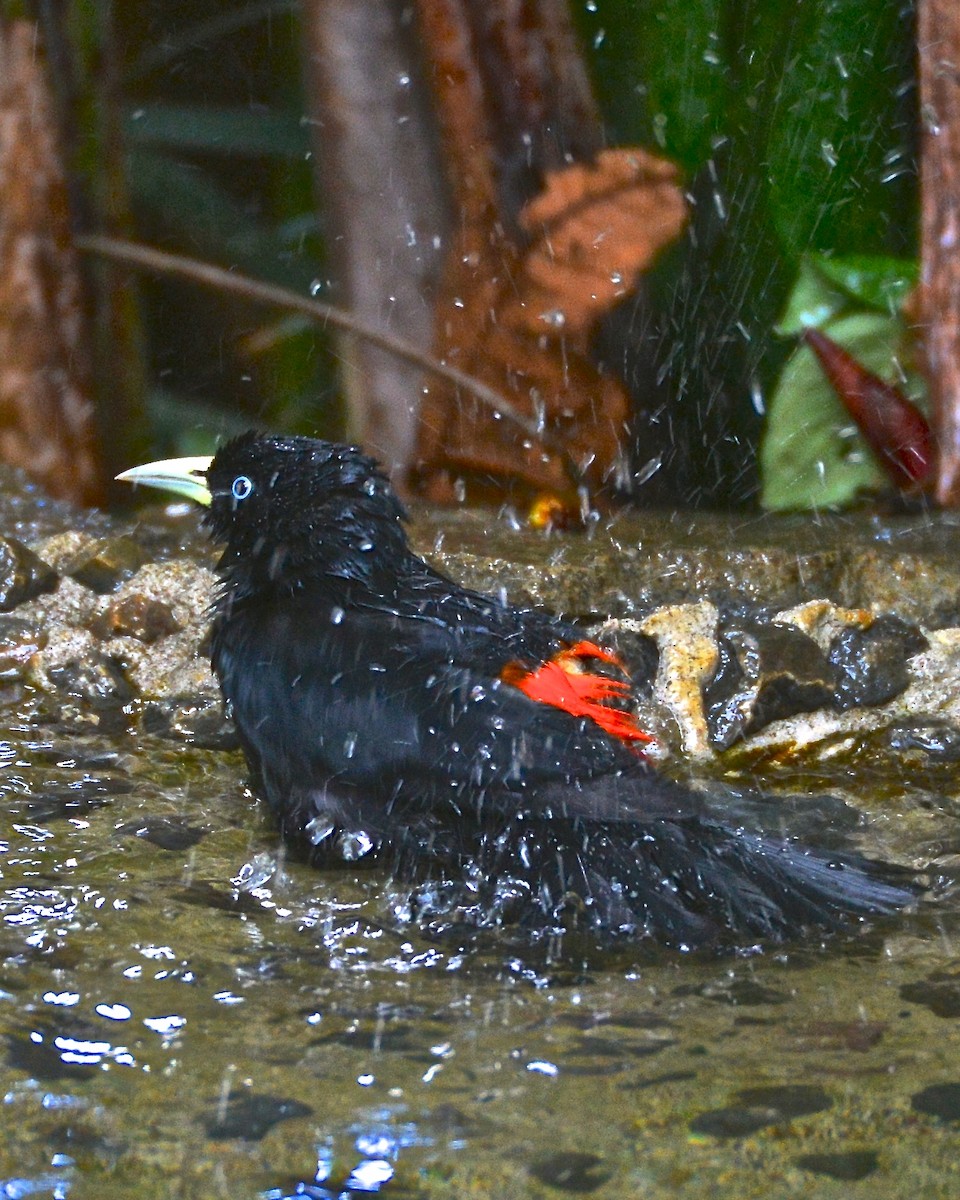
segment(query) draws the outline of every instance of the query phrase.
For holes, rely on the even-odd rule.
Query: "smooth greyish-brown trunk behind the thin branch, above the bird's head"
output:
[[[433,149],[413,6],[304,0],[317,190],[335,290],[365,323],[427,352],[446,208]],[[343,337],[348,436],[392,472],[410,462],[422,374]]]

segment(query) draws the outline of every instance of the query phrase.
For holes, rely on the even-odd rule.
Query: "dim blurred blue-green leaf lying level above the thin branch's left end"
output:
[[[167,146],[248,158],[302,158],[310,138],[294,113],[205,104],[145,104],[130,109],[124,133],[133,146]]]

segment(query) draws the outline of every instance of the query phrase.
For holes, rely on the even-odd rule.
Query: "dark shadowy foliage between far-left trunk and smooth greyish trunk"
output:
[[[122,131],[138,236],[314,294],[325,288],[289,2],[131,7]],[[256,421],[336,433],[336,366],[301,318],[144,278],[154,438],[197,452]],[[318,400],[318,397],[320,397]]]

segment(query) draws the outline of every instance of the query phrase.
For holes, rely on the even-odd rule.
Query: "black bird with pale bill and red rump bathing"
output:
[[[120,478],[209,504],[214,671],[257,790],[314,859],[386,859],[427,881],[427,917],[452,894],[478,924],[679,947],[913,898],[876,864],[728,828],[659,775],[617,655],[433,570],[355,446],[246,433]]]

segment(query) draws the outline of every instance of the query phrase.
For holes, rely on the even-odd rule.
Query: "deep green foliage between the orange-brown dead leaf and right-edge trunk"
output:
[[[686,248],[658,269],[626,334],[641,463],[664,413],[672,426],[662,468],[672,461],[672,478],[640,494],[749,499],[764,397],[786,350],[774,323],[803,257],[916,253],[912,7],[596,0],[577,11],[614,136],[659,144],[685,167],[696,200]],[[871,326],[868,341],[894,334]],[[792,484],[769,478],[784,466],[764,455],[764,500],[796,502]]]

